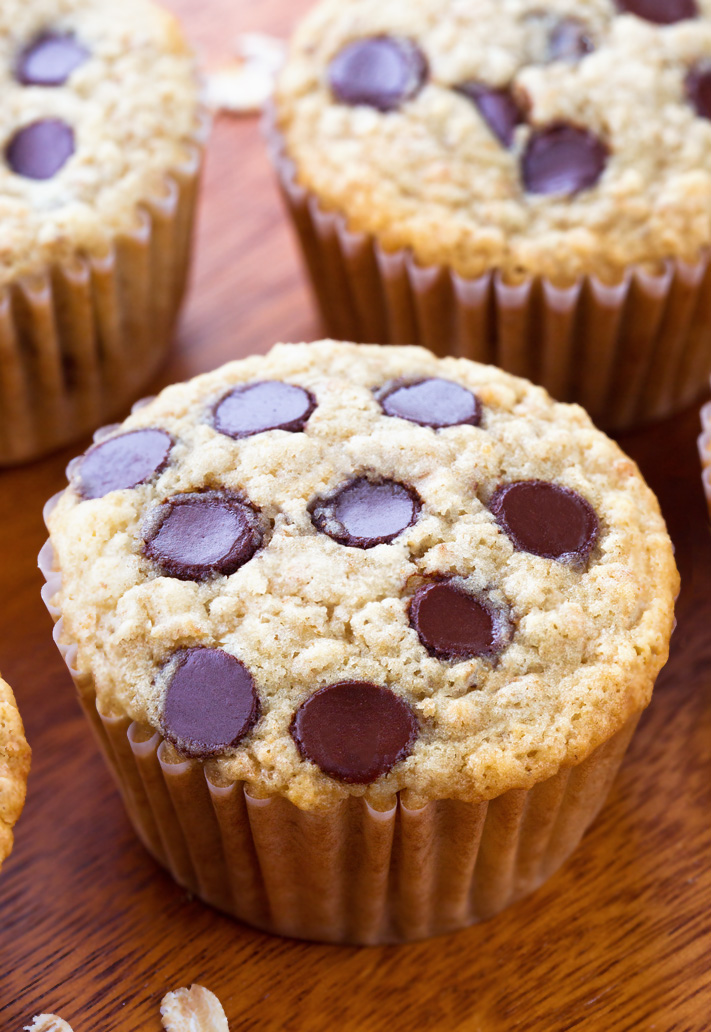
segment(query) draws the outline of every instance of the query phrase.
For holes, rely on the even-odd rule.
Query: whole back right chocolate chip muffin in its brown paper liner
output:
[[[322,0],[269,138],[324,321],[627,427],[711,370],[711,0]]]

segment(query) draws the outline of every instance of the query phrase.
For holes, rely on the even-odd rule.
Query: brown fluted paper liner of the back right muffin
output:
[[[711,374],[711,253],[631,266],[617,284],[583,277],[463,279],[446,266],[386,252],[349,230],[300,186],[272,110],[264,120],[282,194],[328,333],[360,344],[421,344],[440,356],[498,365],[577,401],[608,429],[671,416]]]

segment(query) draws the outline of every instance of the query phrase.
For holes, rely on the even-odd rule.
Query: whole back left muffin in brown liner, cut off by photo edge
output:
[[[0,464],[125,412],[168,347],[204,118],[147,0],[0,10]]]

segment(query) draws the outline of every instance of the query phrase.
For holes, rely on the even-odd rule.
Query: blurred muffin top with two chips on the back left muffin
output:
[[[194,59],[147,0],[3,0],[0,92],[0,287],[105,255],[194,161]]]

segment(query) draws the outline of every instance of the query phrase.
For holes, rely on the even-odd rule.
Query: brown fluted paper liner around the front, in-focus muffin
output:
[[[58,496],[57,496],[58,497]],[[52,506],[55,499],[49,504]],[[54,551],[39,556],[55,641],[146,848],[206,903],[279,935],[408,942],[493,916],[568,859],[603,805],[639,714],[581,764],[482,803],[389,809],[349,797],[324,811],[243,782],[216,783],[157,732],[97,706],[54,603]]]

